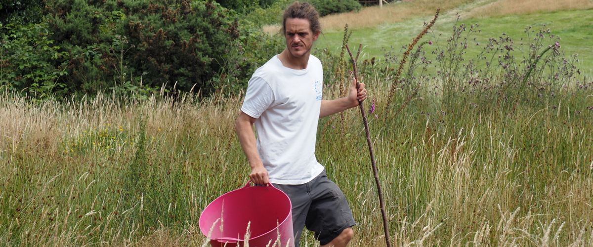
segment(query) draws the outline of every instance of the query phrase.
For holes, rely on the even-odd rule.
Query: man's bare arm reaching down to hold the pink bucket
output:
[[[235,131],[237,131],[241,148],[243,148],[243,152],[245,152],[247,161],[251,166],[249,178],[256,184],[268,184],[267,170],[263,167],[262,159],[257,153],[256,136],[253,134],[253,123],[256,120],[257,118],[253,118],[241,111],[235,122]]]

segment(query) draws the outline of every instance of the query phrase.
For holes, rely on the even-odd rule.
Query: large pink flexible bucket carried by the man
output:
[[[280,235],[282,247],[287,242],[289,247],[294,247],[292,204],[288,195],[272,184],[250,186],[250,182],[216,198],[202,211],[200,230],[203,235],[208,236],[212,229],[210,245],[213,247],[242,247],[247,223],[251,222],[249,246],[266,247],[270,242],[272,246]]]

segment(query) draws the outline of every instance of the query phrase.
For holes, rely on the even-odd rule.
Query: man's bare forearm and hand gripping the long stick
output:
[[[352,107],[357,107],[359,101],[364,101],[366,99],[366,89],[365,84],[361,83],[358,92],[356,91],[356,80],[352,82],[350,85],[350,92],[347,97],[339,98],[336,100],[322,100],[321,101],[321,111],[319,112],[319,118],[327,117],[340,111],[345,111]]]

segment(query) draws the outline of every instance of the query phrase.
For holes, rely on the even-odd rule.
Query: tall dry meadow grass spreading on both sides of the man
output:
[[[379,76],[363,79],[381,109],[388,83]],[[397,92],[394,107],[402,107],[406,94]],[[325,96],[331,95],[339,95],[338,86],[326,88]],[[387,122],[371,117],[394,246],[591,246],[593,111],[574,111],[593,104],[593,96],[549,101],[557,108],[462,104],[443,111],[425,97]],[[202,246],[197,223],[203,208],[247,181],[233,130],[240,102],[100,94],[82,102],[34,103],[2,95],[0,242]],[[146,163],[162,203],[151,208],[156,218],[145,228],[138,217],[142,201],[127,207],[120,191],[142,117]],[[383,246],[359,112],[346,111],[346,133],[337,121],[323,127],[327,121],[320,122],[317,158],[358,223],[350,246]],[[179,197],[170,193],[176,182]],[[311,233],[302,243],[318,245]]]

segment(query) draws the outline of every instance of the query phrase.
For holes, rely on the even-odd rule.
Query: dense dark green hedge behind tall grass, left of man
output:
[[[143,88],[208,94],[247,85],[282,42],[202,0],[46,0],[37,25],[4,26],[0,86],[58,96]],[[18,47],[18,49],[15,49]],[[25,57],[27,59],[19,59]],[[228,85],[228,86],[227,86]]]

